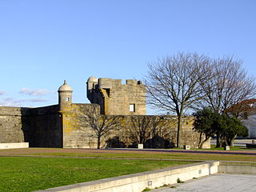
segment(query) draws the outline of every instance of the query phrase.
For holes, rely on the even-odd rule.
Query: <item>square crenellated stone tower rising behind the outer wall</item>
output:
[[[87,98],[101,106],[101,114],[145,115],[146,89],[142,82],[128,79],[94,78],[87,81]]]

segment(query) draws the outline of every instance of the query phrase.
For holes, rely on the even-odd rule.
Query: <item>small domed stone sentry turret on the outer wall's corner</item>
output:
[[[72,104],[72,88],[66,84],[66,80],[62,86],[58,88],[58,105],[59,110],[69,110]]]

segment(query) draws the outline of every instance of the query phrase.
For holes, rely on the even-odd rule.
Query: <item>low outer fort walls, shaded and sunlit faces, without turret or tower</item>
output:
[[[87,125],[87,113],[92,109],[98,117],[100,106],[97,104],[72,104],[66,112],[59,113],[59,106],[39,108],[0,107],[0,142],[30,142],[34,147],[64,147],[64,148],[96,148],[97,138],[94,130]],[[163,116],[142,116],[147,118],[162,118]],[[129,128],[132,115],[119,115],[121,126],[107,137],[102,137],[102,147],[109,145],[109,139],[118,138],[124,146],[133,146]],[[164,116],[168,125],[162,129],[161,137],[176,144],[177,117]],[[182,119],[181,146],[198,147],[199,134],[192,130],[193,117]],[[151,135],[151,138],[153,134]],[[210,142],[205,147],[209,147]]]

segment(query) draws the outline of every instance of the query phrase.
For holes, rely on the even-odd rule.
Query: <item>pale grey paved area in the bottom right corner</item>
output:
[[[205,178],[192,179],[183,184],[172,185],[176,188],[162,187],[152,192],[197,191],[197,192],[255,192],[255,174],[214,174]]]

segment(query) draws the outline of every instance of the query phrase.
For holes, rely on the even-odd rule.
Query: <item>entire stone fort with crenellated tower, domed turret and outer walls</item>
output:
[[[148,133],[144,146],[168,148],[176,145],[177,118],[146,115],[146,89],[142,82],[132,79],[122,84],[121,79],[90,77],[86,87],[90,104],[73,103],[73,90],[64,81],[58,89],[57,105],[37,108],[0,106],[0,143],[29,142],[30,147],[96,148],[97,137],[88,123],[89,112],[93,111],[95,118],[122,119],[110,133],[102,135],[101,147],[134,146],[138,144],[133,139],[138,131],[134,126],[153,125],[159,119],[162,122],[154,124],[154,131],[158,130],[158,133]],[[144,120],[136,124],[134,118]],[[182,122],[180,145],[196,148],[199,134],[192,130],[193,118],[186,116]],[[135,133],[132,133],[133,129]],[[210,142],[205,147],[210,147]]]

